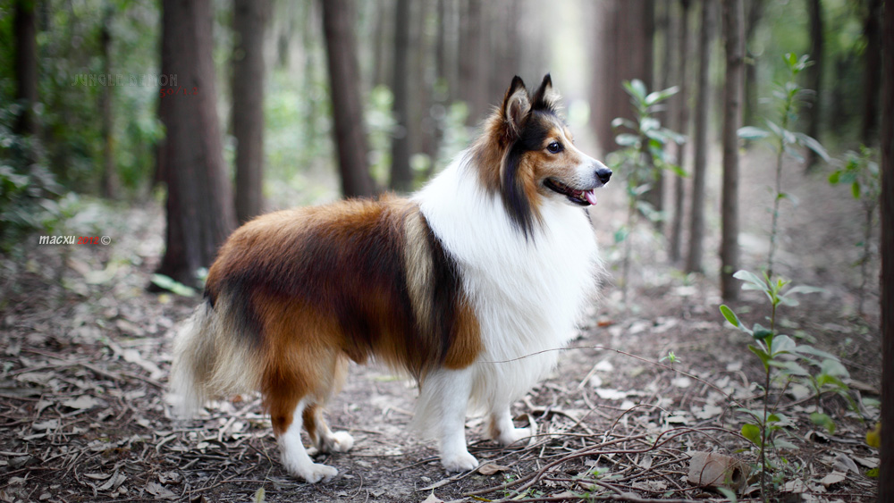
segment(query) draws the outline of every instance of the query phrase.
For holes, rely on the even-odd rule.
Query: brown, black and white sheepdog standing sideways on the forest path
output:
[[[575,147],[549,75],[519,77],[484,130],[415,195],[291,209],[220,248],[205,299],[174,342],[174,414],[260,391],[288,471],[331,479],[322,452],[353,439],[323,407],[350,361],[417,379],[414,423],[447,471],[474,469],[465,419],[503,445],[531,435],[510,406],[576,331],[602,265],[586,206],[611,171]]]

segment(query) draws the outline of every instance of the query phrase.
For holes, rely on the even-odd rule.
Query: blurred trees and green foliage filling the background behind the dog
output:
[[[624,81],[676,87],[649,116],[682,136],[637,147],[659,148],[648,162],[668,168],[648,175],[639,208],[657,215],[671,258],[700,271],[701,251],[681,248],[702,241],[705,152],[724,118],[779,122],[784,54],[813,62],[794,78],[812,91],[787,125],[818,140],[791,145],[807,172],[825,154],[804,146],[822,143],[832,169],[877,146],[881,10],[881,0],[4,2],[0,244],[11,252],[30,232],[58,231],[97,198],[156,201],[168,222],[160,272],[190,284],[255,214],[417,188],[474,137],[513,75],[532,83],[550,71],[579,142],[603,156],[636,143],[615,141],[613,120],[637,119]],[[738,32],[744,103],[730,112],[724,44]],[[635,171],[616,180],[627,176],[629,190]]]

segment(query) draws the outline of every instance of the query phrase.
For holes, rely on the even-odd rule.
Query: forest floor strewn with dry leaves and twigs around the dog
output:
[[[743,165],[743,264],[754,271],[767,247],[768,164],[753,154]],[[787,173],[799,203],[784,207],[778,270],[823,291],[785,306],[780,324],[799,344],[839,356],[856,407],[822,396],[831,433],[810,422],[809,390],[774,385],[776,435],[787,442],[771,457],[768,484],[785,501],[874,500],[876,479],[867,473],[878,452],[864,437],[878,418],[881,380],[878,258],[868,313],[858,315],[859,206],[822,174],[804,178],[798,166]],[[481,440],[483,423],[470,418],[481,466],[448,476],[434,441],[408,431],[415,385],[354,366],[328,417],[355,447],[319,457],[339,474],[317,484],[285,473],[257,397],[215,404],[196,420],[169,419],[173,331],[198,297],[146,291],[164,246],[157,205],[85,203],[62,233],[92,228],[110,246],[38,246],[35,237],[0,262],[0,501],[726,500],[688,474],[698,471],[699,452],[756,465],[739,408],[759,407],[763,366],[747,349],[750,337],[723,323],[716,273],[679,272],[645,224],[630,238],[623,301],[621,247],[613,243],[625,219],[622,193],[610,183],[592,211],[611,273],[602,298],[552,376],[513,408],[517,424],[536,425],[536,437],[501,449]],[[709,229],[718,221],[709,212]],[[719,267],[716,249],[707,239],[706,271]],[[754,291],[732,306],[749,323],[769,314]],[[662,361],[671,352],[676,361]],[[736,481],[738,499],[758,500],[755,476],[745,478]]]

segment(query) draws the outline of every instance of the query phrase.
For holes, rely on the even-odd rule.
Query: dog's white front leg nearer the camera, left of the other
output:
[[[471,369],[433,371],[422,384],[426,417],[437,422],[441,464],[448,472],[473,470],[478,460],[466,449],[466,407],[472,390]]]

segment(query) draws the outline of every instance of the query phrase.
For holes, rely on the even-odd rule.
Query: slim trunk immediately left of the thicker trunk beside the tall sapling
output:
[[[687,272],[702,272],[704,240],[704,179],[708,155],[708,110],[711,106],[711,44],[714,32],[714,0],[702,0],[702,29],[699,35],[698,88],[696,90],[695,163],[692,173],[692,207],[689,208],[689,255]]]

